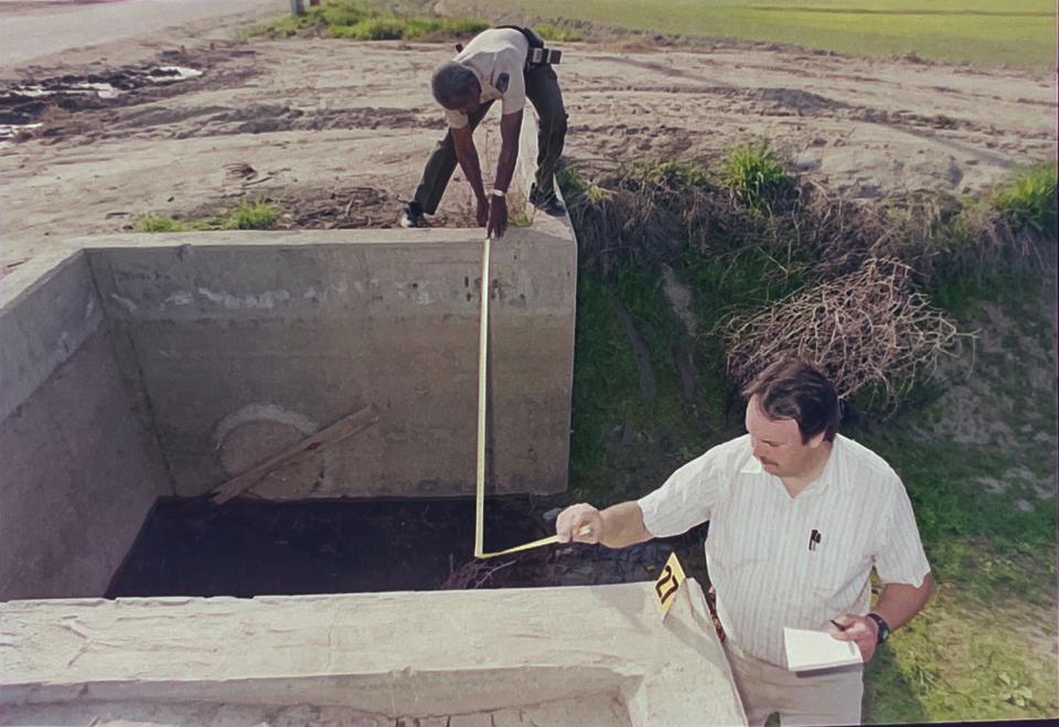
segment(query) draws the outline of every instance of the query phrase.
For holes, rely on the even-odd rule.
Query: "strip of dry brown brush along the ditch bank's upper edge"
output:
[[[817,279],[896,258],[929,287],[944,275],[1042,270],[1044,250],[1055,249],[1053,239],[1018,227],[1002,210],[939,192],[864,201],[792,179],[755,207],[703,168],[681,162],[617,164],[591,180],[571,171],[564,182],[581,259],[603,272],[668,264],[688,247],[721,260],[782,249],[811,261]]]

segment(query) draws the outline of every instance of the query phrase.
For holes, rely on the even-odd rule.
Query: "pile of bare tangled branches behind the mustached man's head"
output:
[[[874,386],[896,403],[965,335],[910,289],[911,274],[892,258],[869,258],[854,272],[730,318],[729,373],[745,383],[777,359],[799,355],[821,366],[842,398]]]

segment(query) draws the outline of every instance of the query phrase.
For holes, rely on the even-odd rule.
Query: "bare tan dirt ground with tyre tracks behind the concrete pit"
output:
[[[280,201],[286,227],[394,224],[443,131],[427,84],[451,45],[234,40],[247,22],[0,65],[0,125],[41,125],[0,142],[2,269],[147,212],[189,216],[245,196]],[[980,191],[1056,154],[1056,88],[1042,71],[642,36],[563,49],[567,160],[589,171],[767,138],[802,172],[870,197]],[[202,75],[151,81],[174,65]],[[113,98],[26,90],[110,78],[133,81]],[[479,136],[490,170],[495,122]],[[469,211],[453,184],[436,224],[466,224]]]

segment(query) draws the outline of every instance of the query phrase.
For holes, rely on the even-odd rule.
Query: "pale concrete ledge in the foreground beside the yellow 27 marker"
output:
[[[253,724],[312,708],[366,724],[488,724],[489,713],[517,724],[526,709],[538,724],[746,724],[694,580],[664,623],[652,584],[3,609],[0,724],[145,710]],[[586,718],[586,705],[599,712]]]

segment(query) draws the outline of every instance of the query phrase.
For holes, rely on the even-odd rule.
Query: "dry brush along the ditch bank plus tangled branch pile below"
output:
[[[853,201],[790,175],[764,146],[740,146],[718,173],[668,161],[568,172],[565,186],[582,263],[600,275],[707,259],[721,285],[747,281],[738,300],[718,296],[727,310],[705,333],[723,341],[729,386],[798,352],[843,398],[870,394],[870,408],[892,411],[973,339],[931,307],[933,290],[1045,269],[1055,174],[1039,167],[981,199]]]

